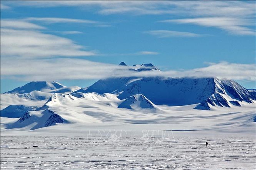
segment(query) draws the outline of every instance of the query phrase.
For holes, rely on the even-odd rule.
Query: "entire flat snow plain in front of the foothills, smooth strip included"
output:
[[[255,133],[170,128],[107,123],[1,129],[1,169],[255,169]]]

